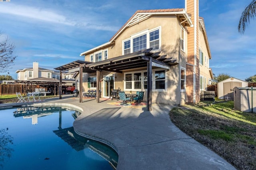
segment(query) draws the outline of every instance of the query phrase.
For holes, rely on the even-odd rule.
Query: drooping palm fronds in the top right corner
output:
[[[239,24],[238,24],[238,32],[244,33],[245,27],[250,23],[250,19],[256,16],[256,0],[252,0],[252,2],[244,9],[242,12]]]

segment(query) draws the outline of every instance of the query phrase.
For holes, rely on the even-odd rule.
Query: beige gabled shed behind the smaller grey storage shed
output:
[[[248,87],[248,82],[231,77],[218,82],[218,98],[225,100],[234,100],[235,87]]]

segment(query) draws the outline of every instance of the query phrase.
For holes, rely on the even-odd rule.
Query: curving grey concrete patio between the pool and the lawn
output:
[[[78,98],[66,96],[34,104],[81,110],[82,114],[73,123],[74,130],[113,147],[119,156],[118,170],[235,169],[170,121],[168,113],[176,106],[157,104],[147,111],[147,108],[120,107],[108,102],[113,101],[103,99],[97,103],[90,99],[79,103]],[[2,108],[8,105],[0,104]]]

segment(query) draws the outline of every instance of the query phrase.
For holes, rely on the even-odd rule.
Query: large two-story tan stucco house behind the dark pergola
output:
[[[110,41],[81,53],[85,61],[93,62],[86,67],[101,72],[102,97],[110,97],[111,90],[119,88],[126,92],[142,90],[145,99],[147,65],[137,63],[133,67],[132,62],[142,62],[136,55],[152,48],[142,57],[147,60],[160,55],[152,57],[152,102],[200,101],[200,91],[206,90],[213,78],[211,53],[204,20],[198,16],[198,0],[187,0],[185,5],[184,9],[138,10]],[[130,59],[127,67],[126,59]],[[96,73],[86,74],[84,80],[84,91],[96,88]]]

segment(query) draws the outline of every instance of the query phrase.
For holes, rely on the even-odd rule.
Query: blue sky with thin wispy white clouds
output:
[[[212,53],[210,67],[244,80],[256,74],[256,20],[244,34],[238,22],[251,0],[199,0]],[[80,53],[109,41],[136,10],[184,8],[184,0],[11,0],[0,2],[0,31],[16,45],[17,59],[8,71],[53,69]],[[7,74],[0,72],[0,74]]]

